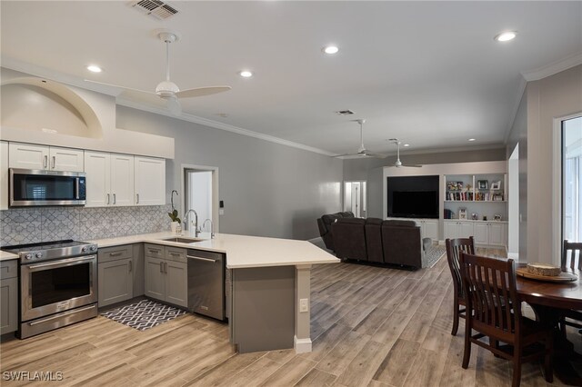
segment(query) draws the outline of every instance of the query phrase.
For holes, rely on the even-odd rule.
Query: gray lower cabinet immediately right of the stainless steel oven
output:
[[[125,244],[99,249],[98,306],[120,303],[134,297],[134,246]]]

